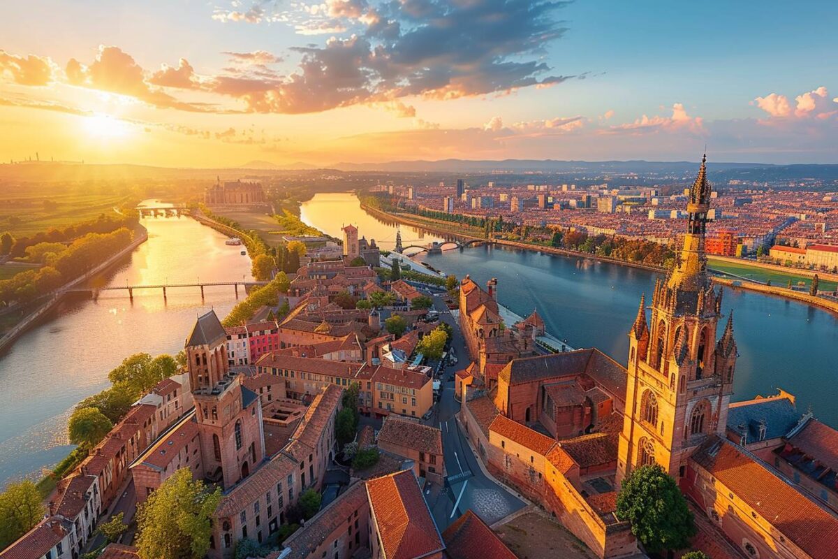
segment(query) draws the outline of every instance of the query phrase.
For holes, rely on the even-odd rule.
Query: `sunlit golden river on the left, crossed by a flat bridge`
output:
[[[148,204],[159,204],[147,200]],[[251,279],[241,246],[188,217],[142,220],[148,241],[99,285],[233,282]],[[240,297],[243,292],[240,288]],[[210,308],[223,317],[233,287],[101,292],[96,301],[66,301],[0,356],[0,489],[10,479],[39,477],[73,448],[66,422],[75,404],[109,386],[108,372],[128,355],[174,355],[195,318]]]

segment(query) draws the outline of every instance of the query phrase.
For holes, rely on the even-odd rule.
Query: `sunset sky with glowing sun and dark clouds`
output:
[[[838,3],[30,0],[0,161],[838,163]]]

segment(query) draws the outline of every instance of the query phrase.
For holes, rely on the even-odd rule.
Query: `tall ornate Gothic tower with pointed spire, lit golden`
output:
[[[658,463],[678,479],[710,434],[724,437],[736,366],[732,317],[715,343],[722,290],[707,276],[704,251],[710,184],[706,156],[687,203],[684,246],[665,280],[655,282],[651,323],[644,298],[629,331],[629,365],[617,483],[634,468]]]

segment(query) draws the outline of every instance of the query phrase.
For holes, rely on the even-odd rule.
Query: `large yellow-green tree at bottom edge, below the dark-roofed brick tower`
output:
[[[137,509],[142,559],[199,559],[209,551],[221,489],[210,492],[189,468],[178,469]]]

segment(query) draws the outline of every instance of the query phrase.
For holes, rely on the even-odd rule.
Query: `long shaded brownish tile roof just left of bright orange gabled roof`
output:
[[[367,505],[365,483],[351,485],[344,494],[334,499],[310,520],[306,520],[302,528],[288,537],[283,543],[283,546],[291,550],[287,556],[301,559],[312,556],[317,547],[334,531],[340,529],[345,532],[346,519],[351,517],[355,510]]]

